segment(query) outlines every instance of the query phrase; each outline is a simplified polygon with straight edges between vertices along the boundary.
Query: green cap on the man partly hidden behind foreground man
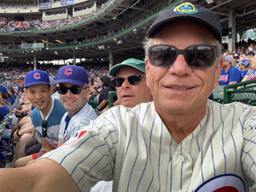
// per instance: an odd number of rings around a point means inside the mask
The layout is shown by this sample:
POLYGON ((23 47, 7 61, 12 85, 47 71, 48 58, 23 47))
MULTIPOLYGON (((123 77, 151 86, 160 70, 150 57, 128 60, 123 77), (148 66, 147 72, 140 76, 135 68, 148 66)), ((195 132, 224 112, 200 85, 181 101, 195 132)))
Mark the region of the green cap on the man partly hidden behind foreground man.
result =
POLYGON ((134 67, 137 68, 137 70, 146 73, 146 62, 145 61, 141 61, 141 60, 137 60, 137 59, 133 59, 130 58, 128 60, 125 60, 119 64, 116 64, 115 66, 113 66, 110 70, 109 70, 109 74, 111 76, 116 76, 116 73, 119 72, 119 70, 121 68, 124 67, 134 67))

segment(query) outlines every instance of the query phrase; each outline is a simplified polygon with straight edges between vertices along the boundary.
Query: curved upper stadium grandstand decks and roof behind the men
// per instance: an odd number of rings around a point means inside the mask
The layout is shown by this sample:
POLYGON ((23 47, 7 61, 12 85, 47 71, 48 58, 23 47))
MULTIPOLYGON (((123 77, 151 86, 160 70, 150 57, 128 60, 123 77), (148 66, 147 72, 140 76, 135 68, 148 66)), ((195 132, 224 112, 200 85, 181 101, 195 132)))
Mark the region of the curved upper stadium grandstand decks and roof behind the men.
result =
MULTIPOLYGON (((183 0, 2 0, 0 56, 7 66, 143 59, 143 39, 155 16, 183 0), (71 62, 67 62, 70 61, 71 62)), ((191 0, 218 14, 226 49, 256 25, 251 0, 191 0), (237 35, 236 35, 237 34, 237 35), (229 39, 227 40, 227 36, 229 39)), ((28 68, 28 67, 26 67, 28 68)))

